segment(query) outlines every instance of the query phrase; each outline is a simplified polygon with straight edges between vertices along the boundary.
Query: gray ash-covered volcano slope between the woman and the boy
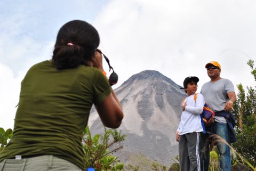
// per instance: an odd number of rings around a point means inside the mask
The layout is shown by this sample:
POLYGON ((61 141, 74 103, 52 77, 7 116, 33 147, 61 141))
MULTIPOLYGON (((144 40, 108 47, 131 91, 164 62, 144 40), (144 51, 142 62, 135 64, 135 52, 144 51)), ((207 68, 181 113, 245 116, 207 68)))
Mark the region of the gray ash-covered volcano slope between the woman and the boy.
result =
MULTIPOLYGON (((115 156, 127 164, 130 153, 141 153, 161 164, 171 164, 171 158, 178 154, 175 132, 180 120, 181 99, 186 96, 179 87, 160 72, 145 70, 115 89, 124 111, 118 130, 127 134, 124 148, 115 156)), ((89 125, 92 133, 102 133, 95 110, 91 112, 89 125)))

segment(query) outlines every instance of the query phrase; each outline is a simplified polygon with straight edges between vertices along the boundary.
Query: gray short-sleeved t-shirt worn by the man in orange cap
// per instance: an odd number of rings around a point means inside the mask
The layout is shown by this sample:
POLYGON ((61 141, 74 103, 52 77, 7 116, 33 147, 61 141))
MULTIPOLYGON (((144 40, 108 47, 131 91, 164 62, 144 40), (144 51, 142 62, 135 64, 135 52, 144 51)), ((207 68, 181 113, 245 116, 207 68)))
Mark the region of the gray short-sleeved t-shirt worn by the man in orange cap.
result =
MULTIPOLYGON (((225 108, 230 92, 235 92, 234 85, 226 78, 221 78, 216 82, 207 82, 201 89, 205 103, 209 104, 214 112, 222 111, 225 108)), ((226 123, 226 119, 223 117, 215 117, 215 121, 226 123)))

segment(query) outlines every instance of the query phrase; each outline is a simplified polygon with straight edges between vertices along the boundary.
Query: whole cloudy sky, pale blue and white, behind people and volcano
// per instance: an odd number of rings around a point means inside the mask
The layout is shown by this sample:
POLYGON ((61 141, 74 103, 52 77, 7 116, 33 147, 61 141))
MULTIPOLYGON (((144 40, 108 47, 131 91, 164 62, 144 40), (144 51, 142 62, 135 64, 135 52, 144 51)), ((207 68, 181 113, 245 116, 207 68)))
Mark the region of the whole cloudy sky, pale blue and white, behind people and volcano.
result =
POLYGON ((114 88, 150 69, 179 85, 197 76, 199 92, 211 60, 235 88, 255 86, 246 64, 256 61, 255 9, 252 0, 1 0, 0 127, 13 128, 22 78, 33 64, 51 59, 58 30, 74 19, 99 31, 100 49, 119 76, 114 88))

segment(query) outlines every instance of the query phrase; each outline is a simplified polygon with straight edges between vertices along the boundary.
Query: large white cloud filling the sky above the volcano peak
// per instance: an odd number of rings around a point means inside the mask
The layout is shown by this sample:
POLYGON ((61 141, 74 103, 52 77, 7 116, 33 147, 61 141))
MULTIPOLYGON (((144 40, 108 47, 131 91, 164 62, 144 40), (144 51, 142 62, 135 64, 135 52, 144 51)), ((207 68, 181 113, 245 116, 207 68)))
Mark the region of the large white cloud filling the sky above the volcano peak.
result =
POLYGON ((187 76, 198 76, 202 85, 209 80, 205 64, 216 60, 222 77, 253 86, 246 62, 256 60, 255 7, 252 1, 116 0, 95 26, 102 51, 119 74, 118 85, 145 69, 179 85, 187 76))

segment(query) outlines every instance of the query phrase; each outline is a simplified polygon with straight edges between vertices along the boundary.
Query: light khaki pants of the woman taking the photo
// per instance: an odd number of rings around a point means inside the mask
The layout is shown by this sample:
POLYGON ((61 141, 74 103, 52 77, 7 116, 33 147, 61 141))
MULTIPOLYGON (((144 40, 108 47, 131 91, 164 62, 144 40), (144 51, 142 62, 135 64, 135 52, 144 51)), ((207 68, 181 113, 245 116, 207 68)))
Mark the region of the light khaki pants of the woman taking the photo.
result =
POLYGON ((51 155, 25 159, 5 159, 0 162, 0 171, 82 171, 73 163, 51 155))

